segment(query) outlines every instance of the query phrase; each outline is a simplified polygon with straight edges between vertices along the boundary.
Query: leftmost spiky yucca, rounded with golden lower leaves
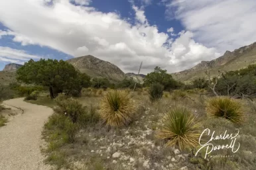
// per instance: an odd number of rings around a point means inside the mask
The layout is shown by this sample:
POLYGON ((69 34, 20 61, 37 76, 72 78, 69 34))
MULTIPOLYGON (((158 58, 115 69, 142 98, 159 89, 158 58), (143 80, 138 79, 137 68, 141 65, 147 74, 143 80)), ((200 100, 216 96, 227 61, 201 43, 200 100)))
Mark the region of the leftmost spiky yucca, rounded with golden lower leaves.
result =
POLYGON ((105 124, 120 127, 132 120, 134 105, 128 91, 112 90, 103 97, 99 109, 101 119, 105 124))

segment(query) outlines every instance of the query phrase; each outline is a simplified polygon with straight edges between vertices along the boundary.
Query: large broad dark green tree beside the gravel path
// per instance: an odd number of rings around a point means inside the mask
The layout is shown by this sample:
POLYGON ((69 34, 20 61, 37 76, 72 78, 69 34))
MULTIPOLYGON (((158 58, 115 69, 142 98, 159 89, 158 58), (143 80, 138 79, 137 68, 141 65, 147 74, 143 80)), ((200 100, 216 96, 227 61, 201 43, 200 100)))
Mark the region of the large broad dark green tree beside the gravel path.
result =
POLYGON ((29 60, 17 70, 17 80, 27 84, 48 87, 53 99, 57 93, 79 95, 82 87, 90 86, 90 77, 80 73, 63 60, 29 60))

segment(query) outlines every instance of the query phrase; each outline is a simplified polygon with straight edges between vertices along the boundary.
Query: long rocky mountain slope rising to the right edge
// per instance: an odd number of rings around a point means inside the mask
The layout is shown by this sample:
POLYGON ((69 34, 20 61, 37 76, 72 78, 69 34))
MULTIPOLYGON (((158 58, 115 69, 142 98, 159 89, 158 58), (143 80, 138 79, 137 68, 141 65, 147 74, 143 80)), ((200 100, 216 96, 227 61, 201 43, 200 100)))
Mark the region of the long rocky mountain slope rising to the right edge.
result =
POLYGON ((171 74, 174 79, 189 82, 196 77, 205 77, 206 70, 210 70, 212 76, 217 76, 219 71, 233 71, 247 67, 250 64, 256 64, 256 42, 233 52, 226 51, 223 56, 215 60, 202 61, 190 69, 171 74))

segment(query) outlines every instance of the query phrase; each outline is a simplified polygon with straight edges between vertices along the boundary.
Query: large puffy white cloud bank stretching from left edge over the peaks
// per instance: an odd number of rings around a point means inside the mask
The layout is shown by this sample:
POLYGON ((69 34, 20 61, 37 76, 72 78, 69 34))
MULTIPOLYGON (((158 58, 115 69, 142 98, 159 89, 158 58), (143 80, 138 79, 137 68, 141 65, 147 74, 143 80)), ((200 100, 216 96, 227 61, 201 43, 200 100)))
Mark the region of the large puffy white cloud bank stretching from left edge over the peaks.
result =
POLYGON ((216 49, 195 42, 192 32, 183 31, 176 40, 159 32, 157 26, 149 25, 143 9, 134 5, 135 25, 117 13, 102 13, 69 0, 54 0, 51 5, 45 0, 8 0, 0 1, 0 6, 0 22, 11 29, 3 36, 74 57, 91 54, 125 72, 137 72, 141 61, 142 73, 157 65, 168 72, 181 71, 219 55, 216 49))

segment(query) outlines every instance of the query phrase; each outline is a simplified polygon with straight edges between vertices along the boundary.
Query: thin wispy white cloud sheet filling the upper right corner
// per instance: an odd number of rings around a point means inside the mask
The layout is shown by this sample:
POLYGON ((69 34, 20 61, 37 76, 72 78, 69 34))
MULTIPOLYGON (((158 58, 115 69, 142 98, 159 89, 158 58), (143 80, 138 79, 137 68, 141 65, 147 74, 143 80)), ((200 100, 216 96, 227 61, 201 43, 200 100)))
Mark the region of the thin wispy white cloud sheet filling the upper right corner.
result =
POLYGON ((198 42, 222 53, 256 41, 255 0, 176 0, 166 8, 168 17, 182 21, 198 42))

